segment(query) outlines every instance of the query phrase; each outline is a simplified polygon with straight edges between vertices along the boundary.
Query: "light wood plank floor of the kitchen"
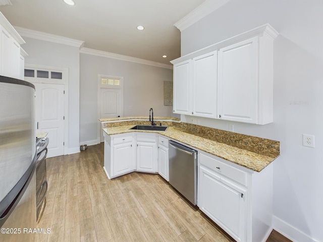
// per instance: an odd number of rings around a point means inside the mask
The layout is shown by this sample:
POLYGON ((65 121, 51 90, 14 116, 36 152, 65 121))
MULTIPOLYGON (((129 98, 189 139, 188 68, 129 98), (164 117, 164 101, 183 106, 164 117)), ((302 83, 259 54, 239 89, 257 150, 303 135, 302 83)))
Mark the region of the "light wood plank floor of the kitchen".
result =
MULTIPOLYGON (((47 159, 48 191, 36 235, 41 241, 232 241, 156 174, 112 180, 103 143, 47 159)), ((274 231, 267 242, 290 241, 274 231)))

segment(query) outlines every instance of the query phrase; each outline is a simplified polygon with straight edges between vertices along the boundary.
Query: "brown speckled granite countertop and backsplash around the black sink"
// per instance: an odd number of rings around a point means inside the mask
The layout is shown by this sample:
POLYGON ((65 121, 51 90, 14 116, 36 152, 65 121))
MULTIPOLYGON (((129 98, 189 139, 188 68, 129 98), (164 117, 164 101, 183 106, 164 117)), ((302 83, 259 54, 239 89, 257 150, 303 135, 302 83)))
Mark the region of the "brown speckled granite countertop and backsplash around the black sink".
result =
POLYGON ((161 122, 161 125, 169 126, 166 131, 129 130, 134 125, 149 125, 149 122, 138 123, 133 120, 126 123, 106 123, 103 131, 107 135, 130 132, 158 133, 257 172, 280 155, 279 141, 172 121, 161 122))

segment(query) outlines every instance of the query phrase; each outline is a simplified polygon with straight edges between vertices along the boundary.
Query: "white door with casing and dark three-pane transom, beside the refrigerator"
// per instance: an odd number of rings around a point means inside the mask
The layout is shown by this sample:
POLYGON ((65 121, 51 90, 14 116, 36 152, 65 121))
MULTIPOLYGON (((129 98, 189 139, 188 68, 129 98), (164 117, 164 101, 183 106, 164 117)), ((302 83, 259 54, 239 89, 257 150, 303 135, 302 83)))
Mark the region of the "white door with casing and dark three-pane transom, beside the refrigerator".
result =
POLYGON ((26 70, 34 74, 25 74, 25 81, 31 82, 36 87, 35 113, 39 128, 36 133, 48 132, 47 157, 68 154, 68 69, 25 64, 26 70), (38 71, 48 72, 48 78, 39 77, 38 71), (42 88, 46 90, 40 91, 42 88), (41 100, 41 95, 49 95, 51 98, 44 96, 41 100), (43 101, 45 103, 42 103, 43 101), (41 109, 45 110, 45 113, 41 114, 41 109), (61 116, 62 119, 54 122, 55 116, 61 116), (41 121, 40 118, 44 120, 41 121))

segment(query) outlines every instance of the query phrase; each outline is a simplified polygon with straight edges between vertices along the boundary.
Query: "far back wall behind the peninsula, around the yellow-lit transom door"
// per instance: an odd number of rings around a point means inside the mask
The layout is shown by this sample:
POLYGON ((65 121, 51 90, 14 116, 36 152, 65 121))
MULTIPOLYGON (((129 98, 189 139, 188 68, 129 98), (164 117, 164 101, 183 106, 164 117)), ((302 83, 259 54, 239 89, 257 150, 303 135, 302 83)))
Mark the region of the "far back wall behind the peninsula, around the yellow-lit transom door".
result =
POLYGON ((124 77, 124 116, 173 116, 164 106, 164 81, 173 81, 173 70, 80 54, 80 144, 97 140, 98 74, 124 77))

